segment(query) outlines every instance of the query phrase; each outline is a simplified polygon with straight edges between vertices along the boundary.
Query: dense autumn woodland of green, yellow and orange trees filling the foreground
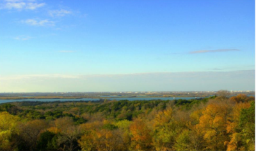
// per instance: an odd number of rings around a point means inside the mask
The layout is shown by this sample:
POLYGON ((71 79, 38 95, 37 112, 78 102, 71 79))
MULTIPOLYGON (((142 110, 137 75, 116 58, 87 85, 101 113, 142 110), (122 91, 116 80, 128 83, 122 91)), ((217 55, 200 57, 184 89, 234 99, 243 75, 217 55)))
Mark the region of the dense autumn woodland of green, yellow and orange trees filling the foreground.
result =
POLYGON ((255 98, 0 105, 0 150, 255 150, 255 98))

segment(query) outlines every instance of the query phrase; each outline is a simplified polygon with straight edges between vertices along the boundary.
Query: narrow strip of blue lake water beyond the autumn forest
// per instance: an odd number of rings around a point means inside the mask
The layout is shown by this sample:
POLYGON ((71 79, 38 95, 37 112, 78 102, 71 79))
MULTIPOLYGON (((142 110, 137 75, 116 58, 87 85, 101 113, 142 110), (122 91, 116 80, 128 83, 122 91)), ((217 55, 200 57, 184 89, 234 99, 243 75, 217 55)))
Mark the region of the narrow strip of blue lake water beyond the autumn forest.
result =
MULTIPOLYGON (((197 97, 200 98, 200 97, 197 97)), ((120 100, 152 100, 152 99, 161 99, 161 100, 173 100, 173 97, 122 97, 122 98, 108 98, 110 100, 115 99, 116 101, 120 100)), ((175 99, 195 99, 195 97, 175 97, 175 99)), ((42 102, 54 102, 54 101, 99 101, 100 99, 91 99, 91 98, 83 98, 83 99, 0 99, 1 103, 12 103, 12 102, 22 102, 22 101, 42 101, 42 102)))

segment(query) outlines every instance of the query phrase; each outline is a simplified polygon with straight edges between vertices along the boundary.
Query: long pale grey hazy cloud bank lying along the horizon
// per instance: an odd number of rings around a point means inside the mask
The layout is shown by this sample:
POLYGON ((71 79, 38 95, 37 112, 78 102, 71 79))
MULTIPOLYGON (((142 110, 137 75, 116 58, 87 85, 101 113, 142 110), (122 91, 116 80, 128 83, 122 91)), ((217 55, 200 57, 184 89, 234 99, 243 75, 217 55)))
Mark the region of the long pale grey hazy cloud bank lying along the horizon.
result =
POLYGON ((254 77, 255 71, 248 70, 116 75, 22 75, 2 76, 0 80, 3 81, 6 92, 218 91, 221 88, 254 90, 254 77), (25 84, 26 89, 23 88, 25 84), (14 91, 13 87, 19 87, 19 90, 14 91))

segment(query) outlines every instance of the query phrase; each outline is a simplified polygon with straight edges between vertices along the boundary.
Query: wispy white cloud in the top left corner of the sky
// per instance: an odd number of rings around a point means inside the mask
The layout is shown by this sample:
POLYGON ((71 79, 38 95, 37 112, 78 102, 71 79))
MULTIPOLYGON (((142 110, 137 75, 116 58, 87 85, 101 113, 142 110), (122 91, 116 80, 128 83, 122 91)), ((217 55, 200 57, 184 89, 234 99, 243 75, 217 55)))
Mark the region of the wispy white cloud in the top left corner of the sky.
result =
POLYGON ((45 6, 45 3, 35 3, 24 0, 6 0, 1 5, 1 9, 7 10, 35 10, 36 8, 45 6))

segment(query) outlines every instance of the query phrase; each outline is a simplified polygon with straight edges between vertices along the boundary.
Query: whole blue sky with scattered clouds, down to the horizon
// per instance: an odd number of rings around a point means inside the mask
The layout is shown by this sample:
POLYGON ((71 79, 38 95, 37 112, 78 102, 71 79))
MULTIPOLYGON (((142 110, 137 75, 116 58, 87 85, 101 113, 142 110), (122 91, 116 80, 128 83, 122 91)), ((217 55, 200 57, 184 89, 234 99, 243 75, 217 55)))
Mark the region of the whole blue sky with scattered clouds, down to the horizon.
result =
POLYGON ((0 0, 0 85, 255 90, 255 1, 0 0))

